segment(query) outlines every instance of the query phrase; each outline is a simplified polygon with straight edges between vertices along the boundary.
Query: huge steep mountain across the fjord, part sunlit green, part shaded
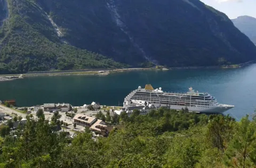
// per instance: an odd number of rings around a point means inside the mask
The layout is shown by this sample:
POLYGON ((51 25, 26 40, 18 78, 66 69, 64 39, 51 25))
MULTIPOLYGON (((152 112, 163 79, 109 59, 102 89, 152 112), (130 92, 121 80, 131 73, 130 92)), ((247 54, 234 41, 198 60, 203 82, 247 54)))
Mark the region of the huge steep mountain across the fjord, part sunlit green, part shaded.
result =
POLYGON ((199 0, 0 0, 0 72, 210 66, 256 47, 199 0), (7 1, 7 2, 6 2, 7 1))

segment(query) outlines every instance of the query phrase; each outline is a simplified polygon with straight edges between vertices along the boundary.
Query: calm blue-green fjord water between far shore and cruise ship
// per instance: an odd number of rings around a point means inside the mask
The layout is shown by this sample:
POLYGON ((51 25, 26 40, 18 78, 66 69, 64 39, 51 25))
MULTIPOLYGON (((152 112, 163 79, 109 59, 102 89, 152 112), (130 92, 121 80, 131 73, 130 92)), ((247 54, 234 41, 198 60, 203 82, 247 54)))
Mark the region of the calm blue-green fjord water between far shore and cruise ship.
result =
POLYGON ((131 90, 150 83, 164 91, 185 93, 190 86, 215 96, 219 103, 235 105, 225 114, 237 120, 256 108, 256 64, 241 69, 130 71, 107 76, 29 77, 0 82, 0 99, 15 99, 19 106, 92 101, 122 105, 131 90))

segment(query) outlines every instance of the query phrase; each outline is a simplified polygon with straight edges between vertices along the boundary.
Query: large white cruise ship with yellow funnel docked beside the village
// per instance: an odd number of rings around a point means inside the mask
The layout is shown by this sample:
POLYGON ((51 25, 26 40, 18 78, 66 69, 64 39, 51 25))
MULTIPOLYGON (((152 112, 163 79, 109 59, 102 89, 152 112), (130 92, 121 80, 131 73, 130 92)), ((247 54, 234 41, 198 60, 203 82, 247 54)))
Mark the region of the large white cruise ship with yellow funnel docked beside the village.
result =
MULTIPOLYGON (((223 113, 233 105, 219 104, 217 99, 208 93, 198 93, 192 87, 187 93, 167 93, 162 88, 154 89, 151 85, 145 88, 133 90, 124 98, 124 107, 136 106, 134 100, 150 102, 156 107, 168 107, 173 110, 181 110, 188 108, 190 112, 199 113, 223 113)), ((136 101, 135 101, 136 102, 136 101)))

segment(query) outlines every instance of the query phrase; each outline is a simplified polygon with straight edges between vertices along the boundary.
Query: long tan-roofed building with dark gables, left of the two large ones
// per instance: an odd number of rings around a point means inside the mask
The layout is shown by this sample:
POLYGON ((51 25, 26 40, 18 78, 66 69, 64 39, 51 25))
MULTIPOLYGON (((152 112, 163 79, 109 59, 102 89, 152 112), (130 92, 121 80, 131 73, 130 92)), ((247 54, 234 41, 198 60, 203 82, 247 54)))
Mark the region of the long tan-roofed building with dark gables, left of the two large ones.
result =
POLYGON ((74 123, 83 127, 91 127, 96 121, 96 118, 84 114, 76 114, 74 116, 74 123))

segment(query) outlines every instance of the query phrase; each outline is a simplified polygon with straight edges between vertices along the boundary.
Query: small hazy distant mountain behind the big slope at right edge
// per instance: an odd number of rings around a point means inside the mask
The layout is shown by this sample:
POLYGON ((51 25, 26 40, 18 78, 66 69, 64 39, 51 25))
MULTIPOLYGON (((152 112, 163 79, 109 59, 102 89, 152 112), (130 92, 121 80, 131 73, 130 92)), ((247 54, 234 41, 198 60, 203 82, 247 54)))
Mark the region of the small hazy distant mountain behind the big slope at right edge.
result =
POLYGON ((235 26, 245 33, 256 45, 256 18, 251 16, 239 16, 236 19, 232 19, 232 21, 235 26))

